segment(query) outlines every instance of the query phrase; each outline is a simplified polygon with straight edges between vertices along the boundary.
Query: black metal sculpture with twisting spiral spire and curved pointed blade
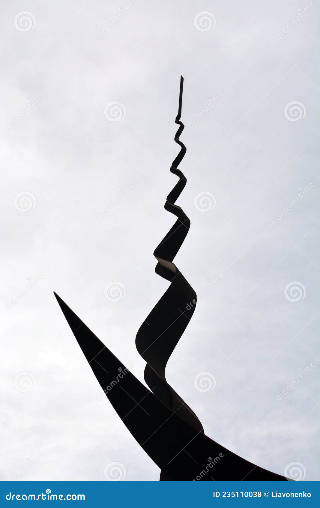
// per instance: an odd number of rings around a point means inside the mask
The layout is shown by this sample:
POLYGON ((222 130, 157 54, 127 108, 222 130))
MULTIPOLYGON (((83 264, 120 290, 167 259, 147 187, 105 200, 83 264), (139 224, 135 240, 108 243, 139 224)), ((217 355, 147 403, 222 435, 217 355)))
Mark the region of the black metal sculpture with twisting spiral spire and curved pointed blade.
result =
POLYGON ((186 185, 180 169, 186 147, 180 141, 183 77, 179 125, 174 141, 181 150, 170 171, 179 177, 164 205, 177 219, 154 251, 156 273, 170 282, 136 335, 136 347, 146 360, 145 380, 150 390, 131 374, 79 317, 56 298, 101 388, 145 452, 160 467, 160 480, 287 480, 226 450, 204 434, 190 407, 170 387, 165 367, 195 309, 196 293, 173 264, 190 228, 190 220, 175 201, 186 185), (189 308, 189 310, 187 310, 189 308), (215 460, 217 458, 217 460, 215 460))

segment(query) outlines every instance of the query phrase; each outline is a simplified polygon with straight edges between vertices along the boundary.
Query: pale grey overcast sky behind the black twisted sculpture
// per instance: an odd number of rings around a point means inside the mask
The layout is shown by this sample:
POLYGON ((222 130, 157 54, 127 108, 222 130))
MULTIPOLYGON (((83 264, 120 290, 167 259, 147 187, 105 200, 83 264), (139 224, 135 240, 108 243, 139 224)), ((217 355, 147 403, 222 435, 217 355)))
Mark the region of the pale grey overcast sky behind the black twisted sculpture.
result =
POLYGON ((318 0, 1 8, 0 478, 159 479, 53 291, 144 382, 134 340, 168 287, 153 250, 174 221, 182 74, 175 263, 201 298, 167 380, 212 439, 318 480, 318 0))

